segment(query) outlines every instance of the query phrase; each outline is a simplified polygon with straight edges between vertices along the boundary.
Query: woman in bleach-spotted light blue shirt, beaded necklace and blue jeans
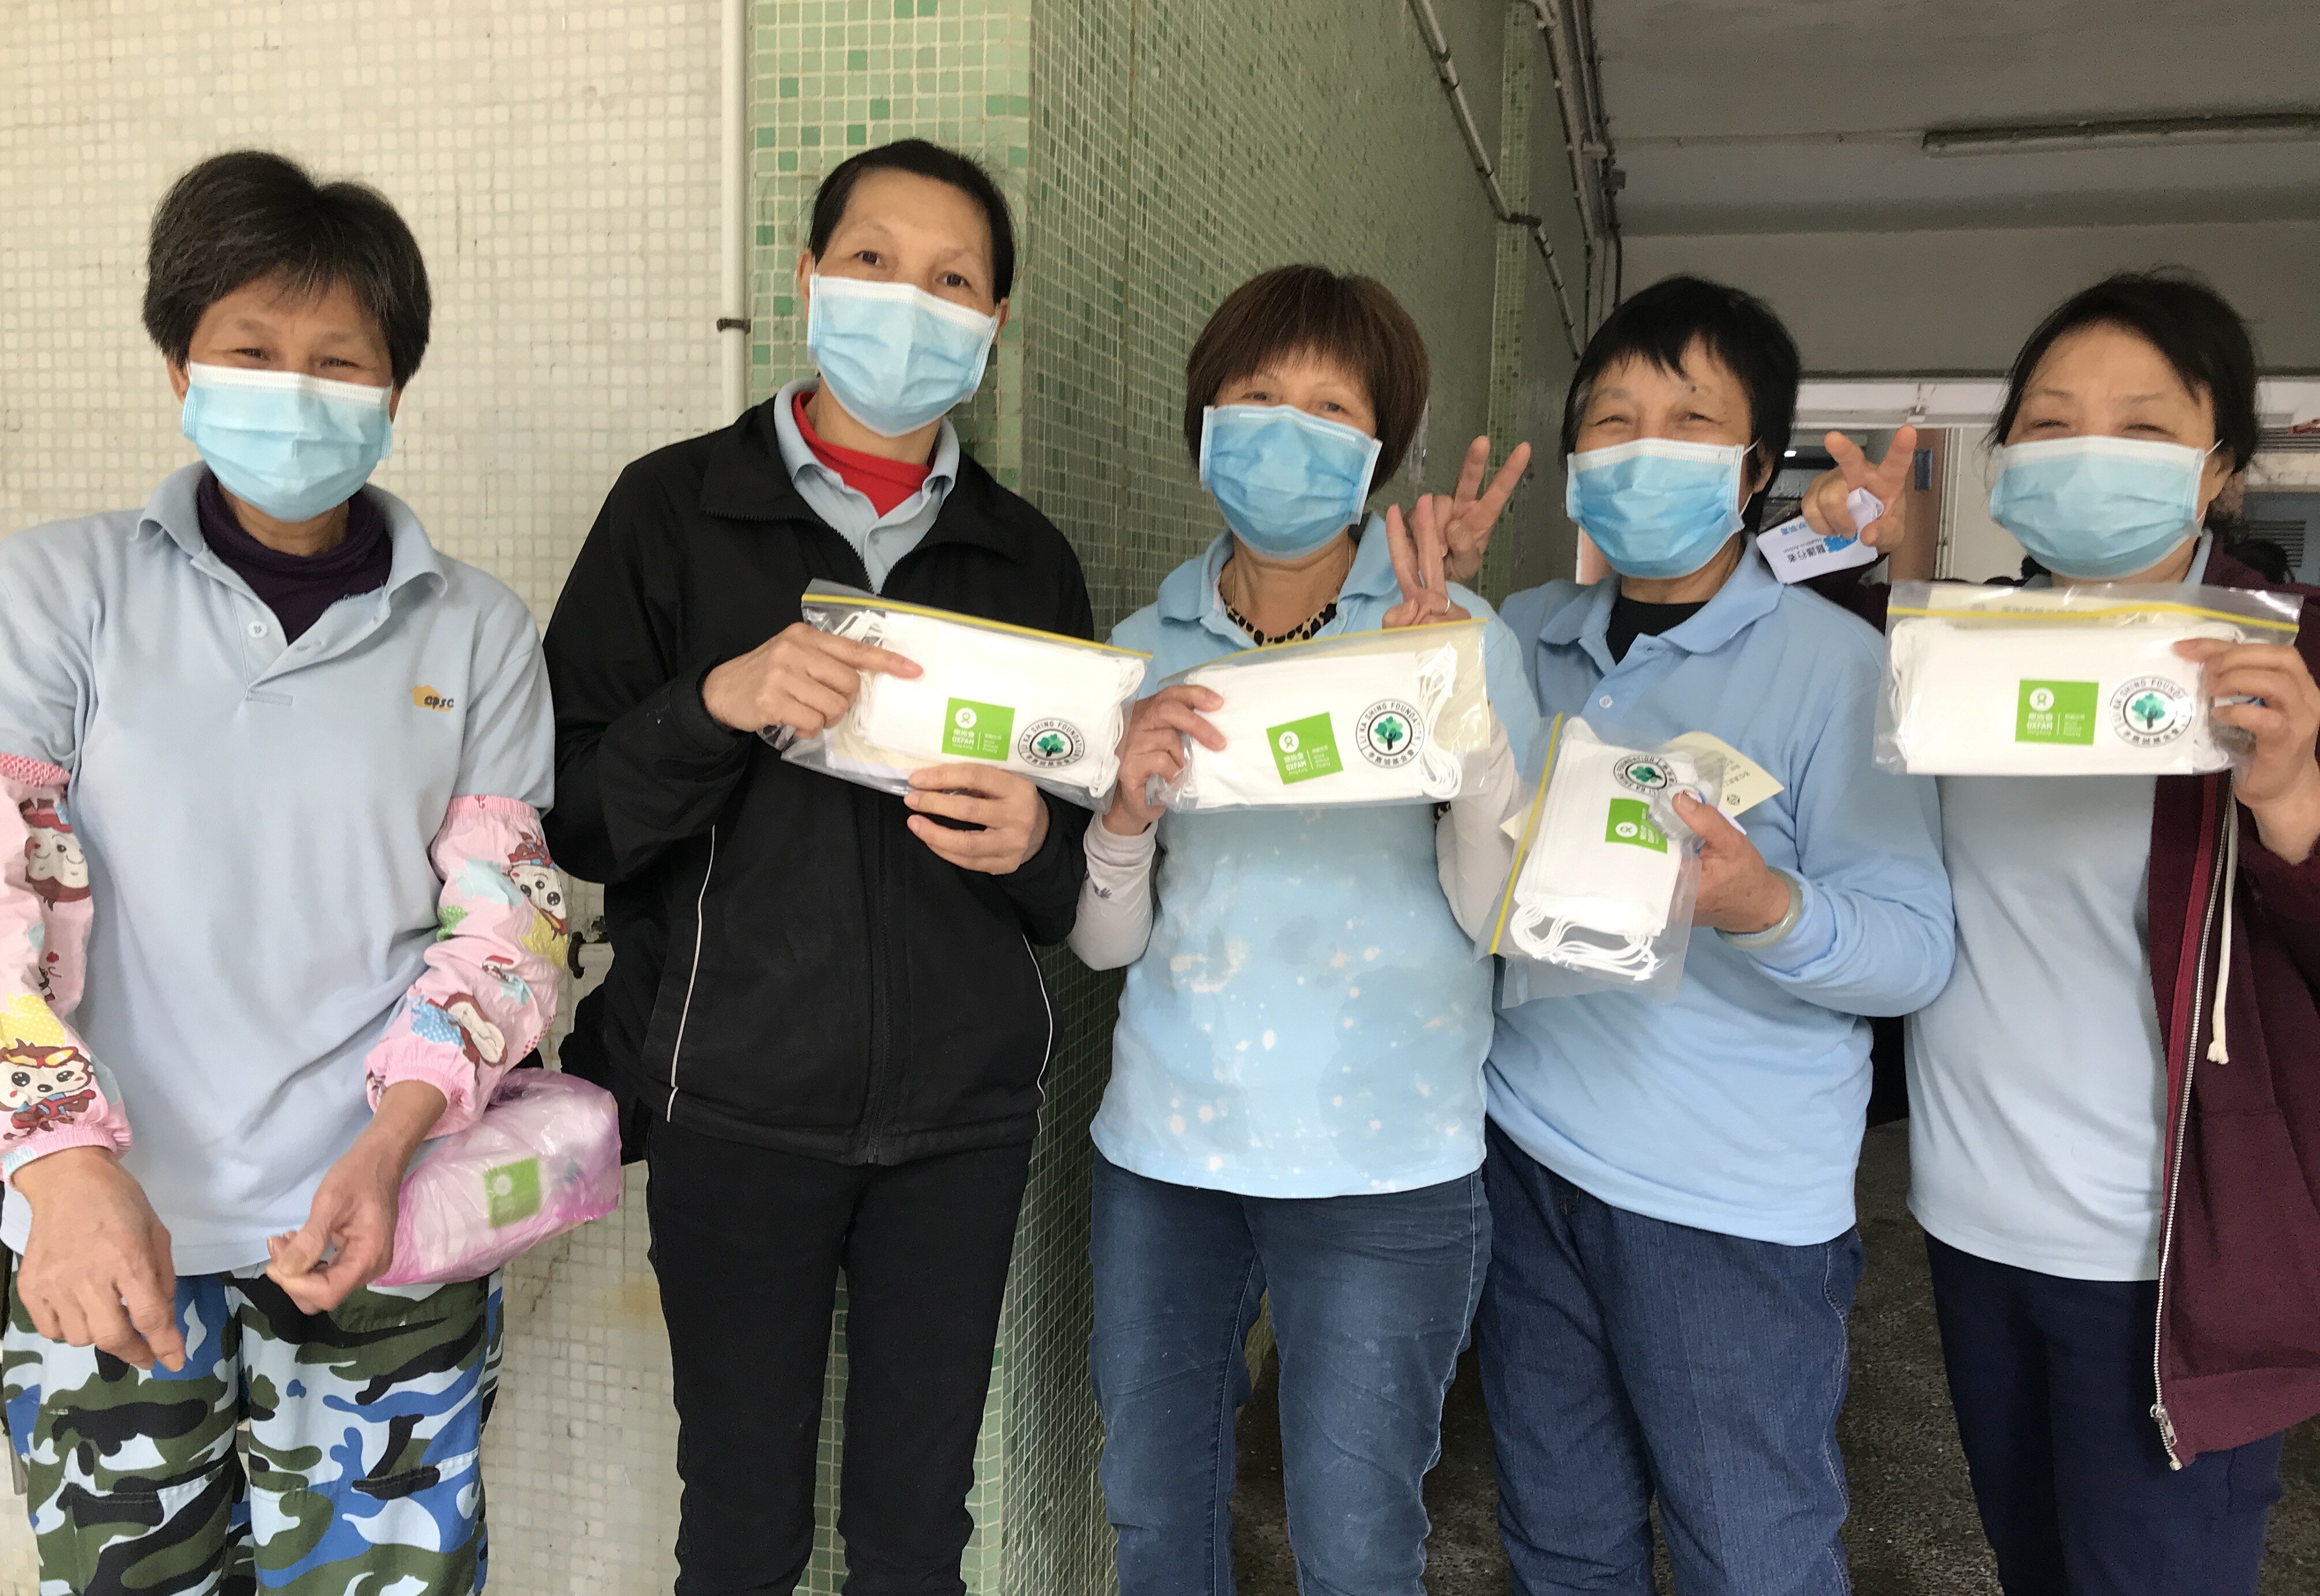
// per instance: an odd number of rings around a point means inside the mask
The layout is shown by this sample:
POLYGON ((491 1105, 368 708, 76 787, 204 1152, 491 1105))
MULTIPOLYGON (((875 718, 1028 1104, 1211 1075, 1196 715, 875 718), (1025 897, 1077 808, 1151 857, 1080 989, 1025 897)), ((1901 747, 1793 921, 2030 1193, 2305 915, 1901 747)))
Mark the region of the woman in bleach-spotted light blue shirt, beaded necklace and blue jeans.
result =
MULTIPOLYGON (((1151 652, 1158 682, 1262 643, 1489 617, 1445 585, 1445 534, 1496 515, 1524 450, 1476 499, 1478 443, 1448 515, 1420 501, 1415 538, 1399 510, 1357 527, 1424 397, 1424 343, 1378 283, 1283 267, 1239 288, 1186 371, 1186 443, 1230 531, 1111 640, 1151 652)), ((1220 698, 1167 687, 1137 708, 1118 798, 1088 828, 1072 946, 1130 967, 1093 1239, 1125 1596, 1232 1589, 1232 1420, 1267 1297, 1302 1587, 1420 1596, 1420 1485, 1489 1260, 1489 967, 1462 919, 1503 875, 1496 826, 1536 721, 1494 617, 1485 652, 1506 726, 1443 817, 1162 817, 1146 777, 1181 768, 1183 735, 1223 745, 1202 717, 1220 698)))

